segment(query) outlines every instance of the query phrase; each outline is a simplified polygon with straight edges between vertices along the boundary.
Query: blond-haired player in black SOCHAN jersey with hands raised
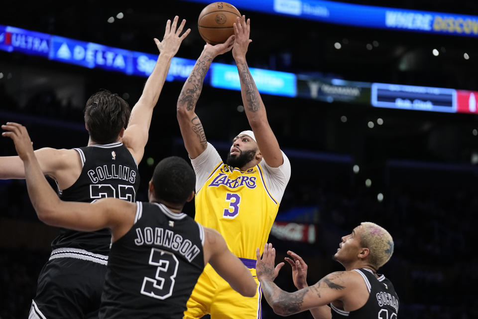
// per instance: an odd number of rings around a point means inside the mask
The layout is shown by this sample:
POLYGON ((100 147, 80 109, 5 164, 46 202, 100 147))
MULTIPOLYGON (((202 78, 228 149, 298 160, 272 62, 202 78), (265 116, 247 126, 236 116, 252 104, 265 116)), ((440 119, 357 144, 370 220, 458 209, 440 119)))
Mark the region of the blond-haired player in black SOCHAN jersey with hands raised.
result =
POLYGON ((331 273, 310 287, 306 282, 307 265, 297 254, 291 251, 288 254, 294 260, 285 260, 292 266, 294 285, 299 289, 294 293, 287 293, 273 283, 284 263, 274 268, 272 245, 265 245, 261 260, 258 248, 256 252, 257 278, 276 314, 288 316, 310 310, 315 319, 397 318, 399 303, 395 289, 390 280, 377 274, 378 268, 393 254, 393 239, 384 228, 362 222, 351 234, 342 237, 334 259, 345 271, 331 273))

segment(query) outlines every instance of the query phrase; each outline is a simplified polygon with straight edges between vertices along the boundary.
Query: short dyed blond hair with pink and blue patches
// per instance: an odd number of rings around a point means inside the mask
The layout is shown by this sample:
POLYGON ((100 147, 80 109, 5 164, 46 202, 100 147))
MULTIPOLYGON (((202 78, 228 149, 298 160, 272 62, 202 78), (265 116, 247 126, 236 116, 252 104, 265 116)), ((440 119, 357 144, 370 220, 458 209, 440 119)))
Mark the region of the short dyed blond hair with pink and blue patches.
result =
POLYGON ((382 267, 393 254, 392 236, 383 227, 372 222, 362 222, 363 231, 360 234, 360 244, 370 250, 369 261, 378 269, 382 267))

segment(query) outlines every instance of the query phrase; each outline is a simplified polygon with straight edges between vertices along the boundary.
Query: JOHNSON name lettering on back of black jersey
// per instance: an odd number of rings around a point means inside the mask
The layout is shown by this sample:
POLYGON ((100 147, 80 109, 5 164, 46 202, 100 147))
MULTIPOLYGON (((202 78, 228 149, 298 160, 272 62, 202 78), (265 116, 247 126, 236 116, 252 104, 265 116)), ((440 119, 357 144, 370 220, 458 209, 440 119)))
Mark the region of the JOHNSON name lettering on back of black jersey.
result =
POLYGON ((144 227, 144 229, 136 228, 137 238, 134 243, 137 246, 141 245, 156 245, 166 247, 179 252, 189 262, 191 262, 201 251, 196 245, 193 245, 189 239, 184 239, 183 236, 175 234, 173 231, 160 227, 155 227, 154 231, 151 227, 144 227))

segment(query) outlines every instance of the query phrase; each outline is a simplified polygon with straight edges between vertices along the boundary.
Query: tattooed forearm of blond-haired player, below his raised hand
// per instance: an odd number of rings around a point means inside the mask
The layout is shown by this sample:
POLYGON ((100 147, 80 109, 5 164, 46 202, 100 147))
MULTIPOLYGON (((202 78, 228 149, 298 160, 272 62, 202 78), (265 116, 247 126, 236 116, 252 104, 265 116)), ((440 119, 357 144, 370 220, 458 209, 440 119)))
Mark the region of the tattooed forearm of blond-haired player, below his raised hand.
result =
POLYGON ((288 316, 302 310, 301 306, 307 289, 302 289, 295 293, 287 293, 270 281, 262 281, 261 288, 267 303, 269 303, 276 314, 288 316))

